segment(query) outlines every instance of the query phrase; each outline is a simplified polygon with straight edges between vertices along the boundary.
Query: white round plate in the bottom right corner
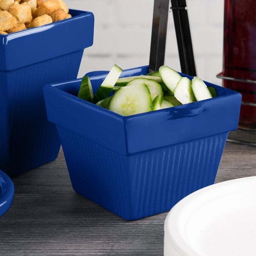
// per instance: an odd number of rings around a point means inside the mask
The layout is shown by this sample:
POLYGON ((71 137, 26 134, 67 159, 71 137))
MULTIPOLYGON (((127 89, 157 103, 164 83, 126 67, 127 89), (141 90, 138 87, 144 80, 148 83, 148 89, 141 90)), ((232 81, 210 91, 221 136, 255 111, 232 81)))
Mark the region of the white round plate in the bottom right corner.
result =
POLYGON ((165 221, 164 256, 256 256, 256 176, 200 189, 165 221))

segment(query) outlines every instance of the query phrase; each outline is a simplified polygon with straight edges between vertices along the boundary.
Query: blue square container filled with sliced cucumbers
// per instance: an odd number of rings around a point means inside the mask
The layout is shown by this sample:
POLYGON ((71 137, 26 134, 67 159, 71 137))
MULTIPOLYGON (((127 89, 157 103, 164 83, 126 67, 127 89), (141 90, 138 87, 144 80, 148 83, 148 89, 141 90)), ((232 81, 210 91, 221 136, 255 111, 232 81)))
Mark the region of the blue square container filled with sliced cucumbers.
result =
MULTIPOLYGON (((146 73, 147 66, 122 76, 146 73)), ((90 78, 94 92, 105 76, 90 78)), ((80 83, 44 87, 48 119, 57 126, 77 193, 136 220, 169 211, 214 183, 228 132, 238 126, 239 93, 207 83, 218 97, 121 116, 79 99, 80 83)))

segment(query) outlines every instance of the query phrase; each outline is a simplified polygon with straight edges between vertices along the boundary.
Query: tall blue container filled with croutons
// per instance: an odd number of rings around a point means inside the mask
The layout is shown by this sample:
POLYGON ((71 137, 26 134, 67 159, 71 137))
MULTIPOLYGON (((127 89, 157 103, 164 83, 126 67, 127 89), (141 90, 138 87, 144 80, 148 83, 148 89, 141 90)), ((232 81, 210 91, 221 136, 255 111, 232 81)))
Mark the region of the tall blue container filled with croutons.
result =
POLYGON ((91 12, 0 35, 0 169, 10 176, 58 156, 60 140, 47 121, 44 84, 76 79, 83 50, 93 44, 91 12))

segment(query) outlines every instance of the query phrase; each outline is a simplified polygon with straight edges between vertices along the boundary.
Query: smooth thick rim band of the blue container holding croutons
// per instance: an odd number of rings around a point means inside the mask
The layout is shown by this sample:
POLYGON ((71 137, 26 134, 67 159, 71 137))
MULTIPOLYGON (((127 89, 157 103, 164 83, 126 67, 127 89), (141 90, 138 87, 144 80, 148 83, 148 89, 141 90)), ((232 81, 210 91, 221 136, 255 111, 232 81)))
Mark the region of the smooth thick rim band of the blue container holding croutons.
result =
POLYGON ((49 60, 93 45, 92 12, 70 9, 73 16, 44 26, 0 35, 0 71, 49 60), (46 48, 46 51, 40 51, 46 48))

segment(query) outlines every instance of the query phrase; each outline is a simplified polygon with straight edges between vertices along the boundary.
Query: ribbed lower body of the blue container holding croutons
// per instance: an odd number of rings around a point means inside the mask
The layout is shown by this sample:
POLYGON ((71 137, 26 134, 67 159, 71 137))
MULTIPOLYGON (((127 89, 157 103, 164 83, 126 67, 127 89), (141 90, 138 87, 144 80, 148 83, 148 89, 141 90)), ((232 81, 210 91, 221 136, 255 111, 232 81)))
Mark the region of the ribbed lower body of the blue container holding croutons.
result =
POLYGON ((0 168, 10 176, 58 156, 60 140, 47 120, 44 84, 75 79, 83 50, 9 72, 0 71, 0 168))

